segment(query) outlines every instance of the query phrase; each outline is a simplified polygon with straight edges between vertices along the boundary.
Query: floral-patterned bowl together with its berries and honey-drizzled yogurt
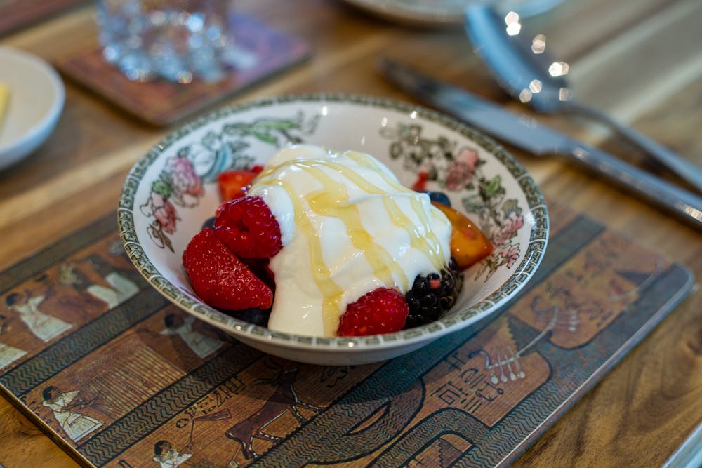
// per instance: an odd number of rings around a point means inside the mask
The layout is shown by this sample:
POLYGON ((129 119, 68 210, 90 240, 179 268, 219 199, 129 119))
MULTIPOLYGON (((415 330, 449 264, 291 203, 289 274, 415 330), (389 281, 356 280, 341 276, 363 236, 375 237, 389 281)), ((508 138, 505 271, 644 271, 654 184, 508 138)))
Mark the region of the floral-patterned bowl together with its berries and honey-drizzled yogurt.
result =
POLYGON ((354 95, 229 107, 132 169, 126 251, 176 305, 264 352, 390 359, 485 319, 548 241, 534 181, 447 116, 354 95))

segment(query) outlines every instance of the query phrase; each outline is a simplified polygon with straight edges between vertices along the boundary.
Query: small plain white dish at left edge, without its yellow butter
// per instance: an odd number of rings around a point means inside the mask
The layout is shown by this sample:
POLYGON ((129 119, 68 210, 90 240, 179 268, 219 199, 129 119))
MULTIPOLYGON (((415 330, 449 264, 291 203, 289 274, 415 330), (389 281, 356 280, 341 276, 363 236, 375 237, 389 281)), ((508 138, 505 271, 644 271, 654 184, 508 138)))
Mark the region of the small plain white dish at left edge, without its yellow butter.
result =
POLYGON ((0 47, 0 81, 10 102, 0 121, 0 170, 37 149, 58 122, 65 89, 58 73, 35 55, 0 47))

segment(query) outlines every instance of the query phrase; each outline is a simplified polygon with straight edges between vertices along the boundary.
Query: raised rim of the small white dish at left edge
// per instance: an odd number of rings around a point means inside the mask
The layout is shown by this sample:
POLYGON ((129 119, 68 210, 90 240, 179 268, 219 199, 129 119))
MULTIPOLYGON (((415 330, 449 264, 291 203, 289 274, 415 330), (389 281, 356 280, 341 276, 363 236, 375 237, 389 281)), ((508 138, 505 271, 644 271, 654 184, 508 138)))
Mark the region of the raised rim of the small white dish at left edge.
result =
MULTIPOLYGON (((0 56, 2 55, 11 56, 15 59, 20 60, 20 62, 23 61, 25 63, 31 63, 32 65, 36 66, 39 70, 41 70, 41 72, 44 73, 44 76, 48 78, 48 81, 53 89, 53 101, 51 102, 51 105, 48 107, 44 115, 41 116, 41 119, 35 122, 31 128, 25 131, 25 133, 22 133, 21 135, 19 135, 18 138, 15 138, 14 140, 10 140, 4 144, 0 144, 0 159, 2 159, 5 154, 12 154, 13 152, 15 152, 16 149, 22 147, 22 145, 27 145, 27 142, 38 138, 39 136, 41 136, 41 133, 45 132, 48 128, 51 128, 53 123, 55 123, 55 119, 61 113, 66 99, 66 90, 65 86, 63 86, 63 81, 61 80, 58 72, 46 60, 32 53, 22 51, 18 48, 11 48, 5 46, 0 46, 0 56)), ((5 116, 5 118, 8 118, 8 115, 5 116)), ((15 156, 14 161, 22 159, 22 156, 28 155, 29 152, 32 152, 32 149, 29 149, 27 154, 15 156)), ((0 166, 2 165, 3 163, 2 161, 0 161, 0 166)))

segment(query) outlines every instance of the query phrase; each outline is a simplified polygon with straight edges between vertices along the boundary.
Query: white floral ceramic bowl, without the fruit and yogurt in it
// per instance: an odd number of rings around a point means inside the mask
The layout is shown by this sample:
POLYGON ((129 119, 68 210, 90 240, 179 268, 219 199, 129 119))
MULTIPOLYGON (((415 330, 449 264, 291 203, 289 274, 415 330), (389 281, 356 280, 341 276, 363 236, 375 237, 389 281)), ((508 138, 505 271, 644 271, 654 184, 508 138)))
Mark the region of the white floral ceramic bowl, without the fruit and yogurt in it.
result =
POLYGON ((496 312, 529 281, 548 239, 548 213, 534 180, 494 141, 437 112, 355 95, 284 96, 221 109, 180 128, 129 173, 119 199, 121 241, 154 288, 241 342, 287 359, 326 365, 369 363, 418 349, 496 312), (188 241, 220 204, 216 175, 262 164, 289 142, 376 156, 410 186, 419 171, 449 194, 495 245, 465 271, 446 316, 398 333, 322 338, 277 333, 208 307, 181 265, 188 241))

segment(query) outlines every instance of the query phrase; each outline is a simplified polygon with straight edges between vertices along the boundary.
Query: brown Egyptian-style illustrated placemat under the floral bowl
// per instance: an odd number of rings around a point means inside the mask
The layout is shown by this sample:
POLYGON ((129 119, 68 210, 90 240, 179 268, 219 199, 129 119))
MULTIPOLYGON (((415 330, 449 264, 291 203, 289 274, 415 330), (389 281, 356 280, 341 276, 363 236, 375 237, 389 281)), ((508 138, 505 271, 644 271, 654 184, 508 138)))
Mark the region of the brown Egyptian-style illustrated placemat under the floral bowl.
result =
POLYGON ((147 286, 111 215, 0 274, 0 389, 86 466, 505 466, 687 295, 681 265, 562 206, 472 330, 364 366, 284 361, 147 286))

